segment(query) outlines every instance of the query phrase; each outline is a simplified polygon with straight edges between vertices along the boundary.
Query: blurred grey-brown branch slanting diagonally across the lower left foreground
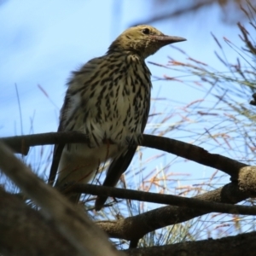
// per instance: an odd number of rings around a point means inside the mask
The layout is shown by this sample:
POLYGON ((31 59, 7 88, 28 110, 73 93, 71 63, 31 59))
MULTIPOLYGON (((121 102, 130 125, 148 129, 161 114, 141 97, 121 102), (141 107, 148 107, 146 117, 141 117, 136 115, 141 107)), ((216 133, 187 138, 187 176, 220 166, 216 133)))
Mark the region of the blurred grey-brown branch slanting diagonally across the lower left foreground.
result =
POLYGON ((45 184, 0 142, 0 168, 32 201, 41 208, 40 214, 70 242, 81 255, 121 255, 108 242, 107 236, 90 219, 74 209, 67 199, 45 184), (97 247, 98 243, 101 247, 97 247))

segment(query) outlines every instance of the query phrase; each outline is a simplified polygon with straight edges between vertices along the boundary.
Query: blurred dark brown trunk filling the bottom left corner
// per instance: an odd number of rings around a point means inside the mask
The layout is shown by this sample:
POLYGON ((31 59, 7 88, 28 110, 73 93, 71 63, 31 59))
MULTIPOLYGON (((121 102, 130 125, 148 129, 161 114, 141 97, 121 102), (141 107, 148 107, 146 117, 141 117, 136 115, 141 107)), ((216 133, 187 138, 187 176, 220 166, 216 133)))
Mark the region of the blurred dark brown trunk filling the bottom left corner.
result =
POLYGON ((15 195, 0 187, 0 198, 1 255, 81 255, 54 225, 15 195))

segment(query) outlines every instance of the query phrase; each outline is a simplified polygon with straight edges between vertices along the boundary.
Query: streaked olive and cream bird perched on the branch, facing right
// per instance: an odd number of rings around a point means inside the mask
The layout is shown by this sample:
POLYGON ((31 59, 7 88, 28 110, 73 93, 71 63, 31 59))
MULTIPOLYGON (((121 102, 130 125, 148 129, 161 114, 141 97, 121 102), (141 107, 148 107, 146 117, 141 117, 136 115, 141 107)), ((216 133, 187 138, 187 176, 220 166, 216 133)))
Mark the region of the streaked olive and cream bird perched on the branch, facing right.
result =
MULTIPOLYGON (((143 139, 148 121, 152 84, 145 59, 167 44, 185 40, 167 36, 153 26, 132 26, 110 44, 105 55, 91 59, 72 73, 58 131, 82 132, 89 142, 64 145, 56 188, 89 183, 107 160, 110 165, 103 185, 118 183, 143 139)), ((54 152, 58 147, 55 145, 54 152)), ((55 172, 51 168, 50 183, 55 172)), ((77 204, 80 194, 68 192, 67 197, 77 204)), ((96 198, 96 211, 107 199, 96 198)))

